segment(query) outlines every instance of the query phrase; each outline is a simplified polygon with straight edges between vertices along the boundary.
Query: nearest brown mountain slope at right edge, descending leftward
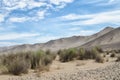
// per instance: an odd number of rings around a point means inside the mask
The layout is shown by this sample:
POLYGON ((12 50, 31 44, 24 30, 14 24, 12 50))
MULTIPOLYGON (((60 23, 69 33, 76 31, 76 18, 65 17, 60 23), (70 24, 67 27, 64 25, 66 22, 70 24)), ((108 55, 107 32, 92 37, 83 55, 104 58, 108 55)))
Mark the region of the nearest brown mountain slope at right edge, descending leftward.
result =
POLYGON ((82 45, 82 47, 92 47, 100 45, 103 49, 120 48, 120 27, 109 31, 108 33, 82 45))

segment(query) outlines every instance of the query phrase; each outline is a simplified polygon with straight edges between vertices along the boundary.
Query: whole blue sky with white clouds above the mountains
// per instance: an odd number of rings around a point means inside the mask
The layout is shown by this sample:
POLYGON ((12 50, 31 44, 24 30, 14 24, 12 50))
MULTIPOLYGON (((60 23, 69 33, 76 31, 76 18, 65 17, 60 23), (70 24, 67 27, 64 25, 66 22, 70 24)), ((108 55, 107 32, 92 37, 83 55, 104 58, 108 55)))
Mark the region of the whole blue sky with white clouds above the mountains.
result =
POLYGON ((120 0, 0 0, 0 46, 92 35, 120 26, 120 0))

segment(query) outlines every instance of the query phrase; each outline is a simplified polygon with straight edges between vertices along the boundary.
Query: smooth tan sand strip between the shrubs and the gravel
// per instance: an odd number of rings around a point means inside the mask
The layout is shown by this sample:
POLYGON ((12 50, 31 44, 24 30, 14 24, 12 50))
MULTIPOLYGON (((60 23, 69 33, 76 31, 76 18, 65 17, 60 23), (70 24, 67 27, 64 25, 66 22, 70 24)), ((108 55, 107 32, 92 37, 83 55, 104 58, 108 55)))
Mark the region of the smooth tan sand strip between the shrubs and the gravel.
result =
MULTIPOLYGON (((67 63, 61 63, 58 60, 53 61, 52 65, 50 66, 50 70, 48 72, 43 73, 35 73, 33 70, 30 70, 28 74, 24 74, 21 76, 14 76, 14 75, 0 75, 0 80, 25 80, 26 77, 28 80, 34 80, 33 77, 38 76, 46 76, 46 75, 52 75, 56 73, 65 73, 69 72, 72 73, 75 70, 92 70, 96 68, 106 67, 108 65, 112 64, 112 62, 106 62, 106 63, 96 63, 94 60, 74 60, 67 63), (29 76, 32 76, 32 78, 29 79, 29 76), (22 79, 19 79, 21 78, 22 79), (24 79, 25 77, 25 79, 24 79)), ((37 80, 37 79, 36 79, 37 80)))

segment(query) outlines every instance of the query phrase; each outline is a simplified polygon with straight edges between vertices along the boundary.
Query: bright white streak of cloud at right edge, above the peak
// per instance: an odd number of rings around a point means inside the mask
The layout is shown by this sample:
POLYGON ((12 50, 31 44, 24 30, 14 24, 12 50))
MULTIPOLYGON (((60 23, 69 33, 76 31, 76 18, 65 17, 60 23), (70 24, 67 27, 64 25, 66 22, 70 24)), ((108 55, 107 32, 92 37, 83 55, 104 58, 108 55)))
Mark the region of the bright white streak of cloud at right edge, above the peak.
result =
POLYGON ((85 25, 93 25, 101 23, 120 22, 120 11, 104 12, 93 15, 90 15, 91 16, 90 19, 81 21, 80 23, 85 25))

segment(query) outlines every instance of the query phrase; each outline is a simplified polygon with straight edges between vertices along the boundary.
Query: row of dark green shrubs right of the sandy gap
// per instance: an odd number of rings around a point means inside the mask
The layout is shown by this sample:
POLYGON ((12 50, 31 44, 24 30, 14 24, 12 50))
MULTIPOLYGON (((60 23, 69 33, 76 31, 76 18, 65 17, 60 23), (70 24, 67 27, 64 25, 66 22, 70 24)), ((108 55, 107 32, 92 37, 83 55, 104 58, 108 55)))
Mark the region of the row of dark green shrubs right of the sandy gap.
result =
MULTIPOLYGON (((66 49, 66 50, 59 50, 58 54, 60 56, 61 62, 68 62, 73 59, 79 59, 79 60, 86 60, 86 59, 102 59, 102 57, 99 57, 100 53, 102 52, 101 48, 94 47, 91 50, 87 50, 84 48, 80 49, 66 49)), ((102 62, 97 60, 97 62, 102 62)))

